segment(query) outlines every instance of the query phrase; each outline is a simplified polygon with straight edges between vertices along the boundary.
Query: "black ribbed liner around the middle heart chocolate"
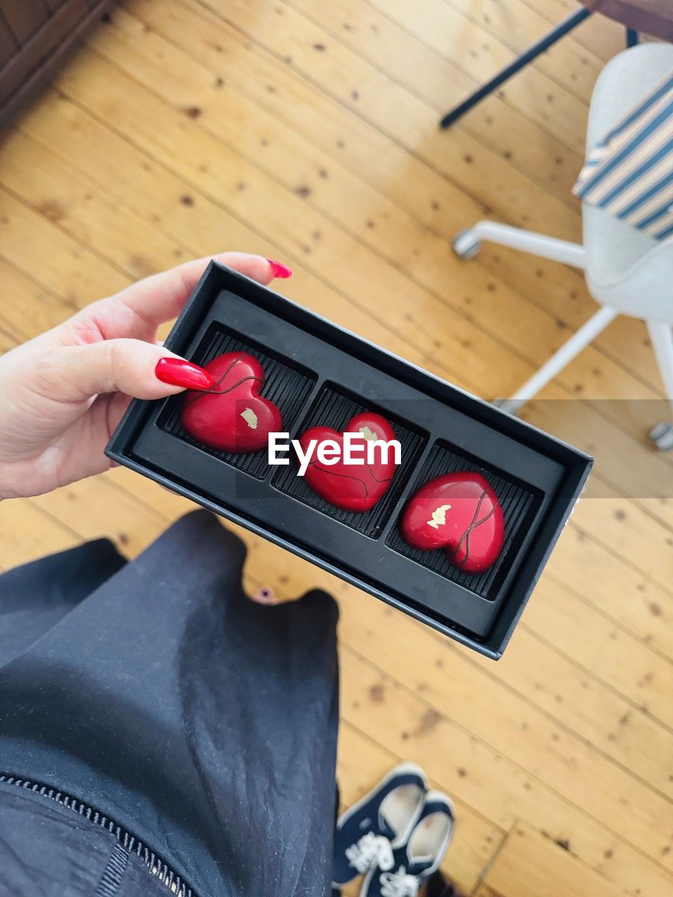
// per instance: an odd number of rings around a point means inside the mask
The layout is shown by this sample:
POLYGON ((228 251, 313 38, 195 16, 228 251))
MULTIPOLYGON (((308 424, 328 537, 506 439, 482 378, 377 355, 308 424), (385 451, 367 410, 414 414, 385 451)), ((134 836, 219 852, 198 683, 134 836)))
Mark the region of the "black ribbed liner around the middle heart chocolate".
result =
POLYGON ((297 465, 293 459, 291 459, 289 466, 278 468, 278 472, 274 475, 271 482, 280 492, 292 495, 293 498, 303 501, 304 504, 310 505, 311 508, 317 508, 329 517, 344 523, 346 527, 351 527, 358 533, 363 533, 364 536, 376 538, 388 522, 390 513, 396 501, 398 501, 418 457, 423 451, 425 444, 424 434, 420 431, 412 430, 409 424, 402 423, 397 418, 391 417, 387 412, 378 409, 376 405, 362 405, 354 396, 337 389, 334 384, 328 384, 320 391, 318 398, 310 408, 309 414, 302 422, 300 431, 304 432, 309 430, 310 427, 317 426, 331 427, 333 430, 343 431, 346 424, 355 414, 362 414, 364 411, 376 412, 385 417, 392 425, 396 439, 399 440, 402 448, 402 464, 395 472, 388 490, 371 510, 360 513, 358 511, 335 508, 334 505, 320 498, 316 492, 313 492, 302 476, 297 475, 297 465))

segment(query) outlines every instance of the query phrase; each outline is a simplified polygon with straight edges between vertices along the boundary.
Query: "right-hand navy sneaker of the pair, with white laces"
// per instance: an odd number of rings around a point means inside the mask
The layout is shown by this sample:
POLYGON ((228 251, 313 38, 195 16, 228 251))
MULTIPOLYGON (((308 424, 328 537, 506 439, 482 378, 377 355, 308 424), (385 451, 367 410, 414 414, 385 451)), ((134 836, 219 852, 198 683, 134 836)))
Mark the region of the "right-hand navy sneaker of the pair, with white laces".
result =
POLYGON ((392 866, 372 867, 360 897, 416 897, 446 856, 454 824, 449 798, 439 791, 429 791, 413 832, 406 843, 393 850, 392 866))

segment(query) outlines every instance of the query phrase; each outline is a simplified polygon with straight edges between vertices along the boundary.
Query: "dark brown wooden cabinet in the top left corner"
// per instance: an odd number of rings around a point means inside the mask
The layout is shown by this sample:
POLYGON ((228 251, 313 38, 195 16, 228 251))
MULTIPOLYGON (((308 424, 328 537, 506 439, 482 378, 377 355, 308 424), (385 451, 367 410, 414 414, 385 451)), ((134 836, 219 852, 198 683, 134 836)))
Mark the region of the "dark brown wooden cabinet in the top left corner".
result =
POLYGON ((0 0, 0 127, 114 0, 0 0))

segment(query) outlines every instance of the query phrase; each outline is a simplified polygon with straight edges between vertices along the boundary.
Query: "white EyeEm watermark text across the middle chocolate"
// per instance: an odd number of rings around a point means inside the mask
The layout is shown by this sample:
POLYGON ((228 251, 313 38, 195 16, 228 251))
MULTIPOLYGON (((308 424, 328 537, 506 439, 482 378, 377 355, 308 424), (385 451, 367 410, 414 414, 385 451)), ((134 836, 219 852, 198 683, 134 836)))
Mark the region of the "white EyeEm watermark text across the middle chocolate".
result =
POLYGON ((387 464, 389 452, 393 453, 393 463, 402 463, 402 447, 399 440, 363 439, 360 433, 345 432, 343 444, 337 440, 310 440, 306 448, 302 448, 299 440, 290 441, 289 433, 268 434, 268 463, 274 466, 290 463, 289 451, 292 447, 299 459, 299 475, 306 473, 312 460, 325 466, 332 466, 343 461, 344 464, 387 464), (282 454, 281 454, 282 453, 282 454))

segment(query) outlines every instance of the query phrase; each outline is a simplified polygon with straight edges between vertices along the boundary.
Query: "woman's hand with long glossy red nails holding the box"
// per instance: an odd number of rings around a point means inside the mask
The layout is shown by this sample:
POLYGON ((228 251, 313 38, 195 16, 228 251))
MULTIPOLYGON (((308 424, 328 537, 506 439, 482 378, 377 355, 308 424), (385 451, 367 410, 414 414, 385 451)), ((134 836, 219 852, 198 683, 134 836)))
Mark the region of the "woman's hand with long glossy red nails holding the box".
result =
MULTIPOLYGON (((259 283, 290 274, 261 256, 215 258, 259 283)), ((0 358, 0 499, 40 495, 107 470, 103 448, 132 397, 208 386, 205 370, 155 342, 157 327, 179 315, 208 261, 94 302, 0 358)))

